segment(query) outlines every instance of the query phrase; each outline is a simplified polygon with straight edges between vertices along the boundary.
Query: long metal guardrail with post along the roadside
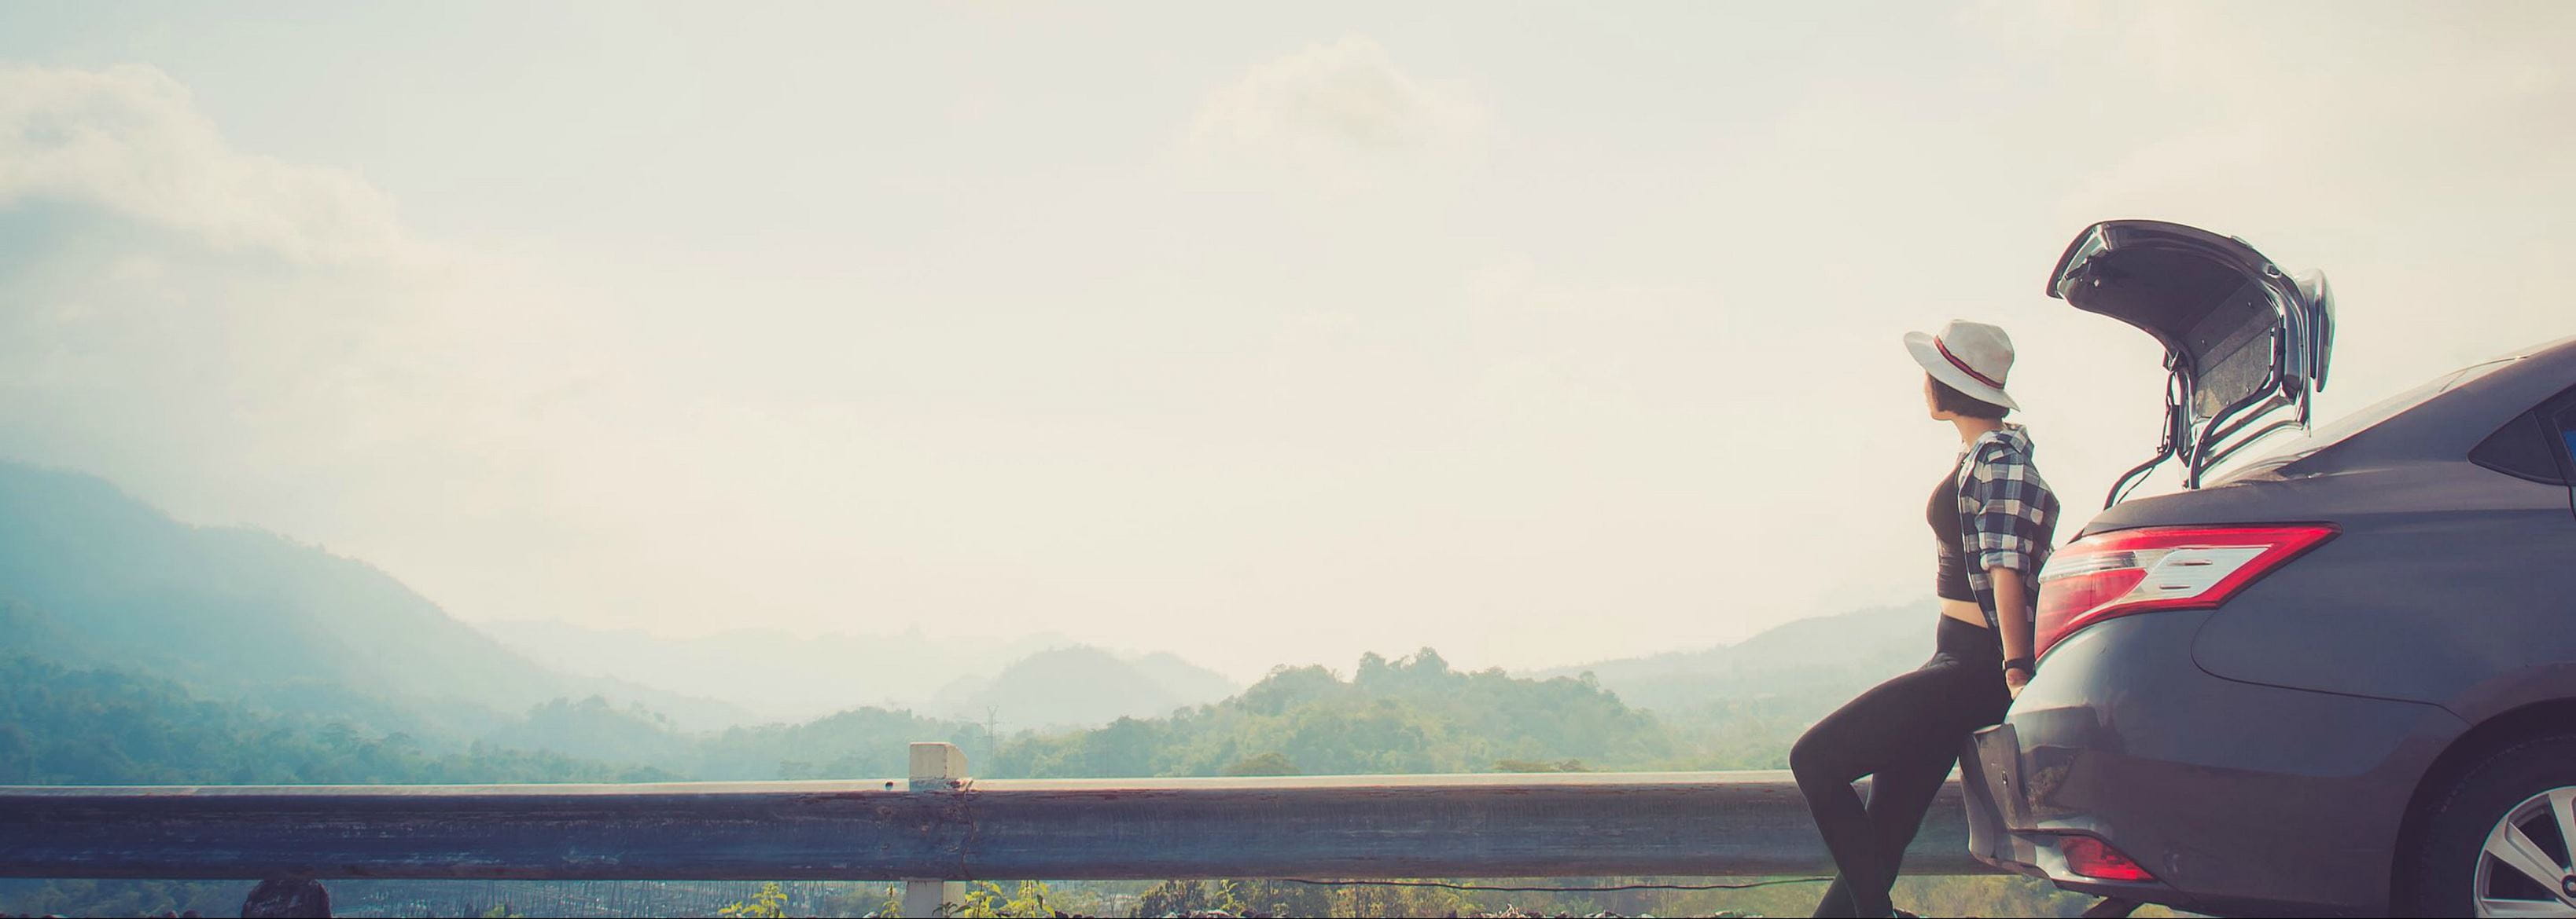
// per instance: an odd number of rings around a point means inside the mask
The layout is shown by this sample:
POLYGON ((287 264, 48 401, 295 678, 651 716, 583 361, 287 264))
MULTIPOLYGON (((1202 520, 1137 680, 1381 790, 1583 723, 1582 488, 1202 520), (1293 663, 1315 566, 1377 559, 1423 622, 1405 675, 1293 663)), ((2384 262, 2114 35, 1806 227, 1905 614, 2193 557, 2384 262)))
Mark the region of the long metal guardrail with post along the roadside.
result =
MULTIPOLYGON (((0 788, 0 875, 922 880, 935 896, 938 880, 969 878, 1832 873, 1788 772, 969 780, 948 744, 914 744, 914 772, 0 788)), ((1958 783, 1906 849, 1906 873, 1994 873, 1968 855, 1958 783)))

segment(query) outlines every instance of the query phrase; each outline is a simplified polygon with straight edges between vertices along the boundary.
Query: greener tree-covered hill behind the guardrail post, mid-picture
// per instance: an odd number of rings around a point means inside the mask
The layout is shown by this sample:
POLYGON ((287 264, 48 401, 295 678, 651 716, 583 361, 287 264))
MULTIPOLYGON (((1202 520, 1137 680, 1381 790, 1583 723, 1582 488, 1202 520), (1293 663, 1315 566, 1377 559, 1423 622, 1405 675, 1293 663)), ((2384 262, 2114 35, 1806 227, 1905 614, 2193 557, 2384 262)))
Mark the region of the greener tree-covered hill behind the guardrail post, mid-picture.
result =
MULTIPOLYGON (((858 708, 806 723, 677 731, 649 710, 554 703, 495 744, 636 762, 708 780, 902 775, 904 744, 945 739, 981 777, 1674 770, 1705 757, 1579 677, 1450 669, 1437 651, 1368 654, 1350 674, 1280 667, 1242 695, 1087 731, 987 736, 974 721, 858 708)), ((1775 759, 1783 744, 1759 757, 1775 759)))

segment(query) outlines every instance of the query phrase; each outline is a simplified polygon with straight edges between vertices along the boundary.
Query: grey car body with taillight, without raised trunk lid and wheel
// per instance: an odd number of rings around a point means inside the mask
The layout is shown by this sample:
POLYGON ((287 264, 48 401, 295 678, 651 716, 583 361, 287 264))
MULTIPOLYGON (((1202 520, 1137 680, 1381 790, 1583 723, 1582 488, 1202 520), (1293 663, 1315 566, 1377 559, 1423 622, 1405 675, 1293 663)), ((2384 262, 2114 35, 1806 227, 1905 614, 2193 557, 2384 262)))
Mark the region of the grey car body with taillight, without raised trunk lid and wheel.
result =
POLYGON ((2481 363, 2105 510, 1963 762, 1973 852, 2192 911, 2388 914, 2481 692, 2576 662, 2568 487, 2473 456, 2568 384, 2576 342, 2481 363))

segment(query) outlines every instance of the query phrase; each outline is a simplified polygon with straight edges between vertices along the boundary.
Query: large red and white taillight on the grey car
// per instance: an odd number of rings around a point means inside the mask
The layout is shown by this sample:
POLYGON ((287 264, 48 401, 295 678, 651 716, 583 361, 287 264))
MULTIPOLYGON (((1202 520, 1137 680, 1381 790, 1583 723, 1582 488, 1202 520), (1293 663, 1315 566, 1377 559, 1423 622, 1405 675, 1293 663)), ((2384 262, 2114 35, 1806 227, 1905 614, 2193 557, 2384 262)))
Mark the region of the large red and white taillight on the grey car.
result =
POLYGON ((2138 528, 2079 538, 2040 571, 2035 654, 2084 626, 2154 610, 2208 610, 2342 533, 2331 523, 2138 528))

